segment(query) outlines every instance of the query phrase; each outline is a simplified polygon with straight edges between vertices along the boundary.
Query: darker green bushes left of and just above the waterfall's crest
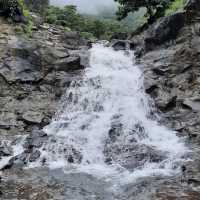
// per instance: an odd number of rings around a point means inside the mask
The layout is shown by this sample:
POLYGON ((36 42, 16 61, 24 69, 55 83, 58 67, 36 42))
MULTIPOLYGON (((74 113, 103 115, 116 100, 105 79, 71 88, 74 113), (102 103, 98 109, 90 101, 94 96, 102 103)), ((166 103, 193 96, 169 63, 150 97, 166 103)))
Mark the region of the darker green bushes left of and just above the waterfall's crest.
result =
POLYGON ((112 17, 81 15, 75 6, 59 8, 49 6, 45 13, 45 21, 50 24, 61 25, 66 30, 78 31, 90 39, 110 39, 113 34, 122 31, 120 22, 112 17))

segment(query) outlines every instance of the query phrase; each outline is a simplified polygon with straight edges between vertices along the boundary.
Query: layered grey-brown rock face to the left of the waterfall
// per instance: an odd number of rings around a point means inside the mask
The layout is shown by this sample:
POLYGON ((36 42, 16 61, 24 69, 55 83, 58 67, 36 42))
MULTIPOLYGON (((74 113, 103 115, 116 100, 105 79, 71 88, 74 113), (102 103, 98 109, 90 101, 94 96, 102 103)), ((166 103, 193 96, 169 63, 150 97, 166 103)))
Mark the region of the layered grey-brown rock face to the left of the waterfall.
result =
POLYGON ((87 41, 60 27, 39 23, 32 38, 14 29, 0 18, 0 140, 28 136, 17 156, 10 143, 0 143, 0 160, 14 156, 4 170, 41 156, 48 140, 41 129, 51 122, 69 84, 81 78, 88 52, 87 41))

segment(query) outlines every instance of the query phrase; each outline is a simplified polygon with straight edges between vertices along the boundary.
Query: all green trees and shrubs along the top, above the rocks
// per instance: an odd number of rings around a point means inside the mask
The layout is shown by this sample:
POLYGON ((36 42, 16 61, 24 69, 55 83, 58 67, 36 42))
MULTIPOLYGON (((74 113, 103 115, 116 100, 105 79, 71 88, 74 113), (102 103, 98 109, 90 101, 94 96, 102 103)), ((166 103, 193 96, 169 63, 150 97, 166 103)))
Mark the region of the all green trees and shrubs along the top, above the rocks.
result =
MULTIPOLYGON (((49 24, 63 26, 65 31, 78 31, 84 38, 110 40, 120 35, 126 36, 135 32, 145 24, 153 23, 157 18, 170 15, 183 8, 186 0, 115 0, 119 3, 115 8, 99 8, 98 14, 88 15, 77 12, 75 6, 49 6, 49 0, 0 0, 0 11, 20 10, 26 23, 21 25, 23 32, 32 35, 33 21, 29 11, 38 12, 49 24), (19 9, 20 8, 20 9, 19 9)), ((145 26, 146 27, 146 26, 145 26)), ((21 32, 20 28, 16 28, 21 32)))

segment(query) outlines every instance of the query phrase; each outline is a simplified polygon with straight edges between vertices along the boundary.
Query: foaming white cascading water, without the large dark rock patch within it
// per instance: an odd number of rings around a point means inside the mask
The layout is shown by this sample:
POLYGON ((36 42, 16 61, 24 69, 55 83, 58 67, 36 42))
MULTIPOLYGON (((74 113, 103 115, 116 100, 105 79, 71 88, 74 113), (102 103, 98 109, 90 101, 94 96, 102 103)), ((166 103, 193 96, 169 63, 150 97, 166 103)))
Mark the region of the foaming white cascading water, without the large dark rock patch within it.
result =
MULTIPOLYGON (((143 88, 143 74, 134 63, 133 52, 114 51, 102 44, 90 50, 90 67, 82 80, 73 82, 67 90, 64 109, 45 128, 50 136, 43 147, 42 159, 53 168, 75 167, 88 173, 128 173, 129 178, 155 173, 170 174, 173 164, 186 151, 176 134, 150 118, 152 111, 143 88), (145 162, 128 172, 119 163, 105 162, 104 148, 114 116, 123 124, 121 141, 129 144, 129 135, 136 124, 145 134, 134 135, 138 144, 161 151, 166 158, 158 163, 145 162), (70 164, 69 154, 80 154, 76 164, 70 164)), ((76 158, 75 158, 76 159, 76 158)))

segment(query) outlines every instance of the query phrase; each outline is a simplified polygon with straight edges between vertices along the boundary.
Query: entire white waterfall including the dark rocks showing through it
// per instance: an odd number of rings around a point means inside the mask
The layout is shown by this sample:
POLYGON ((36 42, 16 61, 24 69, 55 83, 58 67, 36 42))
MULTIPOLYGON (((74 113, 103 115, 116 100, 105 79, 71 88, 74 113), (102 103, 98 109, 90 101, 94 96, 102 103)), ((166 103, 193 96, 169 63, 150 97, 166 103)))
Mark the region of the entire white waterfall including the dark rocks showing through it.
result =
POLYGON ((112 191, 138 178, 179 173, 187 148, 157 122, 134 52, 94 44, 90 67, 71 83, 60 107, 44 129, 49 139, 40 159, 30 168, 89 174, 111 183, 112 191))

